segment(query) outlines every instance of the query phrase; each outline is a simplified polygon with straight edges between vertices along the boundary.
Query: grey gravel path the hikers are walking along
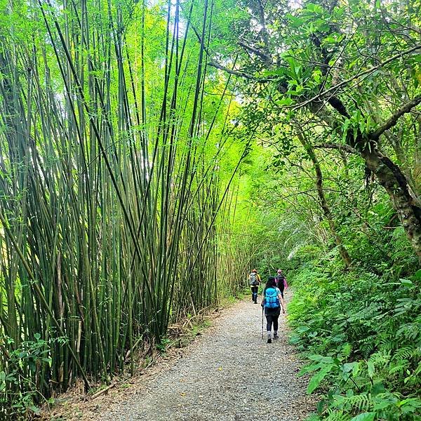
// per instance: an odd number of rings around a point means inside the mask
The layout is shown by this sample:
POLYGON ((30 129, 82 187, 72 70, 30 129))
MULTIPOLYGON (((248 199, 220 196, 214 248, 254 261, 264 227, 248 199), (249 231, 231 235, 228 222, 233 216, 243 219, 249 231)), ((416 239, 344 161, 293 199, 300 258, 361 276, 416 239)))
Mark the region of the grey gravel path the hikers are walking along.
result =
POLYGON ((260 305, 238 302, 130 385, 80 401, 67 415, 50 419, 305 420, 314 411, 314 398, 306 394, 306 378, 297 377, 301 361, 288 344, 285 317, 279 322, 280 338, 268 344, 266 333, 262 340, 260 305))

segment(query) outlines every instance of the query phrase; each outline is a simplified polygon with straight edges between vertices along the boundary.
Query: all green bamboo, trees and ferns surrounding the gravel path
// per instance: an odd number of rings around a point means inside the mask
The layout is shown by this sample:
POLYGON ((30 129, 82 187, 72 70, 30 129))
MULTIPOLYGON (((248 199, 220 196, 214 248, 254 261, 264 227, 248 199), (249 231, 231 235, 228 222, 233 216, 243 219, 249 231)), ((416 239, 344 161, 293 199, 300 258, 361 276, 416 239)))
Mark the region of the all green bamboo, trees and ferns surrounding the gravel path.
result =
POLYGON ((142 338, 163 350, 171 321, 282 267, 309 392, 336 388, 323 417, 410 419, 419 116, 370 134, 420 92, 420 1, 77 6, 0 0, 8 401, 133 372, 142 338))

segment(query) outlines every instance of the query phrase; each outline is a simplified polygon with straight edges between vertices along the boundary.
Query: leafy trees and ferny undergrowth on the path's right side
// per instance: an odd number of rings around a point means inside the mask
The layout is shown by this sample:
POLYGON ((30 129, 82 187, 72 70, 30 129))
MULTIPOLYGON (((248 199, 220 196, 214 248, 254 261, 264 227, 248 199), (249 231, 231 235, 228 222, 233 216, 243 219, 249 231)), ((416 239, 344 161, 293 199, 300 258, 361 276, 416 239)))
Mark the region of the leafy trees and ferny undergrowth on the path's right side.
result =
MULTIPOLYGON (((420 1, 232 4, 240 121, 265 147, 265 173, 248 169, 257 265, 288 268, 296 287, 291 340, 323 392, 314 419, 416 420, 420 1)), ((232 62, 234 47, 213 47, 232 62)))

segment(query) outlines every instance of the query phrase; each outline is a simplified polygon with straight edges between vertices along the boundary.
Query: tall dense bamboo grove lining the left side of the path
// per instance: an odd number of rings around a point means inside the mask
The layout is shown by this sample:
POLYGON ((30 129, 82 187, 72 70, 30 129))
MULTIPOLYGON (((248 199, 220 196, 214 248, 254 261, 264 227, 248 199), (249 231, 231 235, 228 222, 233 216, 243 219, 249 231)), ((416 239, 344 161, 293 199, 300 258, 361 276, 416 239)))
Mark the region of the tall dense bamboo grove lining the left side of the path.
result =
POLYGON ((7 405, 134 370, 169 323, 239 289, 248 253, 227 224, 250 139, 233 140, 232 81, 206 65, 210 2, 1 1, 1 13, 7 405))

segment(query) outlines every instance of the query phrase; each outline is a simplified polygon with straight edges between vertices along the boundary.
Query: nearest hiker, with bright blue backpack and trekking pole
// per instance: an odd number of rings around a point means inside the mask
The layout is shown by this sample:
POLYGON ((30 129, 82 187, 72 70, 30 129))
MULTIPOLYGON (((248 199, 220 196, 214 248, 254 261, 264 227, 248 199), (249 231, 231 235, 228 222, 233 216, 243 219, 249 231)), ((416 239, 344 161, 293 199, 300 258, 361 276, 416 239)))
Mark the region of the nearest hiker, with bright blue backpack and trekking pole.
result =
POLYGON ((266 316, 266 330, 267 330, 267 343, 272 344, 272 324, 274 326, 274 339, 279 339, 278 336, 278 318, 279 314, 286 314, 285 304, 281 295, 281 291, 276 286, 274 276, 269 276, 263 290, 262 307, 265 307, 266 316))

